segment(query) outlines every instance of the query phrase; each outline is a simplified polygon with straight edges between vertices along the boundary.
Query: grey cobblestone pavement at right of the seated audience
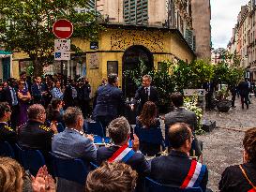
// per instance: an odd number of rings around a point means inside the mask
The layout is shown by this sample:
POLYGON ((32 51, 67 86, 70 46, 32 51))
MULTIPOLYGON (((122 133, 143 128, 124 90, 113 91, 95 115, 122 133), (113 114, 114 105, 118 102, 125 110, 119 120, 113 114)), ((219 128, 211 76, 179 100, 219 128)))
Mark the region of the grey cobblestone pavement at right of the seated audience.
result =
POLYGON ((244 131, 256 126, 256 98, 250 98, 248 110, 242 110, 236 97, 236 108, 229 112, 206 111, 206 119, 214 120, 218 128, 198 136, 203 140, 203 164, 209 170, 208 187, 218 191, 221 173, 226 167, 242 163, 244 131), (227 129, 228 128, 228 129, 227 129))

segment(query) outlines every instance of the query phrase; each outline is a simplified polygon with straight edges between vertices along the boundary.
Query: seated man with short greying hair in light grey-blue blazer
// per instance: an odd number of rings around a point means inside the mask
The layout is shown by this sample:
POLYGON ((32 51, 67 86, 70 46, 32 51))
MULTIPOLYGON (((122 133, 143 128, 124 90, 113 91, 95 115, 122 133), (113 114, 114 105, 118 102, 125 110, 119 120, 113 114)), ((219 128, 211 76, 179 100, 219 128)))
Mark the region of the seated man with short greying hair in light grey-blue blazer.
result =
MULTIPOLYGON (((52 141, 53 154, 60 158, 82 158, 86 165, 90 161, 96 161, 96 147, 93 144, 93 137, 83 135, 83 113, 78 108, 69 107, 64 115, 66 129, 54 135, 52 141)), ((84 186, 59 178, 57 191, 62 192, 83 192, 84 186)))

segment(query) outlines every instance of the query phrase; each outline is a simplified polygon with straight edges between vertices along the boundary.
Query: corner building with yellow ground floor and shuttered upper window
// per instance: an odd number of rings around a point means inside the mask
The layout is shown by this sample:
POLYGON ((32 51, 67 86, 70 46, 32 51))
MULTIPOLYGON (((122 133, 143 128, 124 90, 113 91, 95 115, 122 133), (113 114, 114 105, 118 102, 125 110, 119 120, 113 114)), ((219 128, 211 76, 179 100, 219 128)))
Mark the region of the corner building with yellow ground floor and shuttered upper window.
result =
MULTIPOLYGON (((98 42, 71 39, 81 48, 83 56, 71 55, 71 60, 64 62, 64 74, 72 79, 75 75, 86 76, 91 81, 93 92, 102 78, 114 72, 119 76, 123 91, 128 93, 132 87, 129 87, 124 72, 136 68, 142 61, 157 69, 164 61, 181 59, 191 62, 195 59, 191 0, 94 2, 91 7, 77 8, 77 11, 97 11, 102 15, 106 30, 100 32, 98 42)), ((16 53, 13 62, 20 69, 29 63, 22 53, 16 53)), ((58 72, 59 62, 45 68, 45 73, 58 72)))

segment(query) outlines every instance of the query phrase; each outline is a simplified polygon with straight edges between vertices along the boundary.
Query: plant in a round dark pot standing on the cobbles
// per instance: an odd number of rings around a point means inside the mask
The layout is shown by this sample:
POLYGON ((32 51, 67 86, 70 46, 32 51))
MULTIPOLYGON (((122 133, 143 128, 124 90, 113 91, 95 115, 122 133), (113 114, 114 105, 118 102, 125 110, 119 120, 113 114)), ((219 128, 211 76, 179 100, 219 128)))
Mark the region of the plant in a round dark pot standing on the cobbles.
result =
POLYGON ((216 99, 217 99, 217 109, 221 112, 227 112, 230 110, 232 101, 228 99, 229 92, 227 88, 222 88, 217 92, 216 99))

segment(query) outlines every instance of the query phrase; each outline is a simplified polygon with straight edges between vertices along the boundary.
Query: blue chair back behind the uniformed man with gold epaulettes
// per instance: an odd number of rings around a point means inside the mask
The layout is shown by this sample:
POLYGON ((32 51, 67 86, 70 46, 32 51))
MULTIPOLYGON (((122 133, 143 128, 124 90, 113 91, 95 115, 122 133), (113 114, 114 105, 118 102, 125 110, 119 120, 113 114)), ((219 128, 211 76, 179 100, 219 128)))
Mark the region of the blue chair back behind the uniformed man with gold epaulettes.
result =
POLYGON ((37 175, 38 170, 45 164, 45 159, 39 150, 23 149, 23 163, 26 165, 32 175, 37 175))

